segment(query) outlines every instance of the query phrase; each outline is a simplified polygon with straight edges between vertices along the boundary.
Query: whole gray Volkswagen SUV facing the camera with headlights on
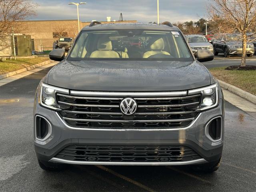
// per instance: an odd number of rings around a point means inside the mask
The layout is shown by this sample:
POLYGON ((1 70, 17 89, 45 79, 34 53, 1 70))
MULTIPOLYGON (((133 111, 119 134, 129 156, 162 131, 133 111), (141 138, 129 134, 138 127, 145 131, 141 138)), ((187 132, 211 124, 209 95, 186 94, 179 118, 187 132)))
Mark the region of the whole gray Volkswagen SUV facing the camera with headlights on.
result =
POLYGON ((64 164, 193 165, 218 169, 224 99, 182 32, 162 24, 83 28, 41 80, 34 102, 34 146, 44 170, 64 164))

